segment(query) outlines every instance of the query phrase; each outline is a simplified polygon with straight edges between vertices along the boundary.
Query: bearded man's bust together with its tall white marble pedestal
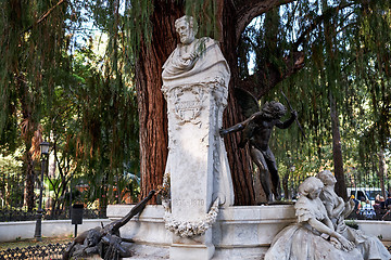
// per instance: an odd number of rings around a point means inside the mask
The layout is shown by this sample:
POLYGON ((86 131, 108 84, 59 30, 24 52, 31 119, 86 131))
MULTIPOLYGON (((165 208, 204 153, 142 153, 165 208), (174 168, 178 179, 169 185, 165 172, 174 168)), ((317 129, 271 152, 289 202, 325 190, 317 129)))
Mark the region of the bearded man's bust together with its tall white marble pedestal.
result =
POLYGON ((218 42, 195 39, 190 16, 176 21, 180 43, 163 66, 167 101, 171 259, 211 259, 213 204, 234 204, 228 159, 218 130, 227 105, 229 67, 218 42), (195 235, 194 235, 195 234, 195 235))

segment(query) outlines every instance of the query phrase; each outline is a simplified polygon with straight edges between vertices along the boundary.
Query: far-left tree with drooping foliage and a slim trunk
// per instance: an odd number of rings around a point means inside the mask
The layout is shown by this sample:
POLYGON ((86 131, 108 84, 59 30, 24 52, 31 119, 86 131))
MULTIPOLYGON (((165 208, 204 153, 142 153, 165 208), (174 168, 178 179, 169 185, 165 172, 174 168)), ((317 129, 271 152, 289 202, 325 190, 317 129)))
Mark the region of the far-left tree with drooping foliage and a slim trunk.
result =
POLYGON ((61 53, 66 49, 66 8, 59 6, 52 11, 54 15, 46 16, 50 8, 51 1, 1 2, 0 145, 13 150, 16 133, 22 136, 28 209, 34 207, 34 157, 39 152, 39 121, 45 104, 50 106, 54 75, 63 65, 61 53))

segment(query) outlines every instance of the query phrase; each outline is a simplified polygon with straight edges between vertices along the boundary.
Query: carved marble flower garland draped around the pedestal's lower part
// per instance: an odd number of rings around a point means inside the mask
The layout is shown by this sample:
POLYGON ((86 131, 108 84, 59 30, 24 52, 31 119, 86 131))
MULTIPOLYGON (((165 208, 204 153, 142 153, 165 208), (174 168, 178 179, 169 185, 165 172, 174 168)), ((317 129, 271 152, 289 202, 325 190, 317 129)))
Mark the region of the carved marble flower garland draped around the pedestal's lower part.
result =
MULTIPOLYGON (((166 172, 163 178, 163 187, 164 190, 169 191, 169 173, 166 172)), ((165 193, 169 196, 169 193, 165 193)), ((197 235, 202 235, 206 232, 209 227, 216 222, 218 213, 218 198, 213 203, 207 214, 199 221, 177 221, 173 218, 171 212, 169 197, 165 196, 163 198, 162 205, 165 209, 164 221, 166 230, 173 232, 174 234, 180 237, 191 237, 197 235)))

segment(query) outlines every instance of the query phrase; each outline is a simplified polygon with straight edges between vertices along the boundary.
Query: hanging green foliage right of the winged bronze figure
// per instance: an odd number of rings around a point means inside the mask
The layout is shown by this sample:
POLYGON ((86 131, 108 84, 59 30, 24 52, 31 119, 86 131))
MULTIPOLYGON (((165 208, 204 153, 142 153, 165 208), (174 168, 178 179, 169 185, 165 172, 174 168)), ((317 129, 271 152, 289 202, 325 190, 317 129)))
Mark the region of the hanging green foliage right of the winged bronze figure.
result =
MULTIPOLYGON (((335 109, 340 114, 338 122, 341 131, 341 158, 348 162, 343 167, 343 171, 340 170, 340 177, 344 178, 351 169, 364 171, 360 165, 368 157, 371 162, 376 161, 375 166, 377 166, 377 153, 387 147, 390 126, 382 125, 381 129, 388 132, 384 135, 369 134, 374 138, 369 143, 358 144, 365 140, 363 133, 369 130, 368 123, 379 126, 379 122, 369 119, 379 115, 376 113, 376 108, 371 107, 380 105, 383 107, 381 113, 383 118, 390 116, 390 109, 387 108, 389 107, 390 90, 386 87, 388 84, 387 76, 383 76, 388 65, 382 62, 384 56, 390 53, 390 4, 383 1, 374 1, 370 4, 344 1, 327 5, 325 1, 313 1, 312 3, 300 1, 289 4, 280 21, 286 24, 282 25, 285 31, 279 32, 285 37, 279 39, 289 39, 289 41, 278 41, 277 44, 288 46, 285 52, 301 50, 305 54, 305 67, 285 80, 280 88, 288 93, 289 99, 299 109, 299 119, 304 126, 308 139, 298 142, 300 135, 292 140, 292 135, 276 132, 278 143, 275 143, 274 150, 277 151, 277 157, 281 158, 281 162, 285 161, 283 164, 289 165, 292 164, 291 157, 293 156, 298 162, 307 165, 304 167, 305 171, 313 172, 312 174, 325 167, 327 159, 332 160, 330 155, 336 155, 336 153, 328 152, 332 129, 330 121, 331 96, 333 98, 331 101, 336 104, 335 109), (305 5, 304 13, 306 15, 301 13, 304 8, 301 4, 305 5), (314 9, 312 4, 315 4, 315 10, 319 10, 321 13, 310 12, 311 9, 314 9), (292 22, 294 16, 304 18, 294 24, 292 22), (301 31, 303 32, 301 34, 301 31), (376 48, 374 48, 374 39, 377 42, 376 48), (374 74, 377 75, 374 76, 374 74), (371 83, 368 83, 367 80, 369 75, 375 79, 371 83), (386 88, 380 90, 376 83, 383 84, 386 88), (382 100, 379 99, 374 103, 375 95, 371 93, 376 92, 371 89, 378 89, 378 96, 382 96, 382 100), (368 103, 370 100, 371 102, 368 103), (363 156, 358 154, 360 147, 364 147, 363 156), (371 156, 368 156, 370 154, 371 156), (317 159, 313 161, 313 157, 317 159), (290 162, 288 162, 289 160, 290 162), (308 166, 312 167, 308 168, 308 166)), ((263 23, 265 26, 261 27, 264 28, 262 30, 267 30, 269 27, 266 26, 266 18, 263 23)), ((253 28, 250 28, 244 36, 251 34, 251 30, 253 28)), ((249 37, 244 38, 244 42, 249 42, 250 44, 247 44, 250 47, 255 46, 255 49, 257 42, 266 41, 262 38, 254 43, 254 40, 247 39, 249 37)), ((265 55, 264 53, 267 53, 268 50, 261 48, 254 52, 256 55, 265 55)), ((257 56, 257 61, 263 61, 263 57, 257 56)), ((258 66, 257 64, 256 66, 258 66)), ((256 69, 257 67, 255 67, 254 76, 256 76, 256 69)), ((280 99, 279 91, 272 91, 268 99, 280 99)), ((294 131, 294 129, 292 130, 294 131)), ((297 167, 297 173, 304 168, 297 167)), ((306 173, 305 171, 303 173, 306 173)), ((375 172, 376 170, 371 171, 371 174, 375 172)), ((344 186, 339 188, 340 193, 345 191, 344 186)))

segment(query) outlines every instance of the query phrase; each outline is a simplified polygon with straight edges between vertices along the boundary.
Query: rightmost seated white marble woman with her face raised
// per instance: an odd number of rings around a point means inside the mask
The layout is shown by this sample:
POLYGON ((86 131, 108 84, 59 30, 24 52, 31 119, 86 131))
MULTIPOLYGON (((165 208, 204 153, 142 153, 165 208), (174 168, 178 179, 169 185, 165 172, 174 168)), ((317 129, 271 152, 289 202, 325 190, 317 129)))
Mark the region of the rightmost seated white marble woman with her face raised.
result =
POLYGON ((345 224, 344 219, 354 209, 354 202, 349 200, 345 203, 336 194, 335 185, 337 180, 331 171, 321 171, 317 174, 317 178, 325 185, 319 197, 326 207, 336 232, 354 243, 365 260, 391 259, 391 255, 377 237, 365 235, 362 231, 354 230, 345 224))

